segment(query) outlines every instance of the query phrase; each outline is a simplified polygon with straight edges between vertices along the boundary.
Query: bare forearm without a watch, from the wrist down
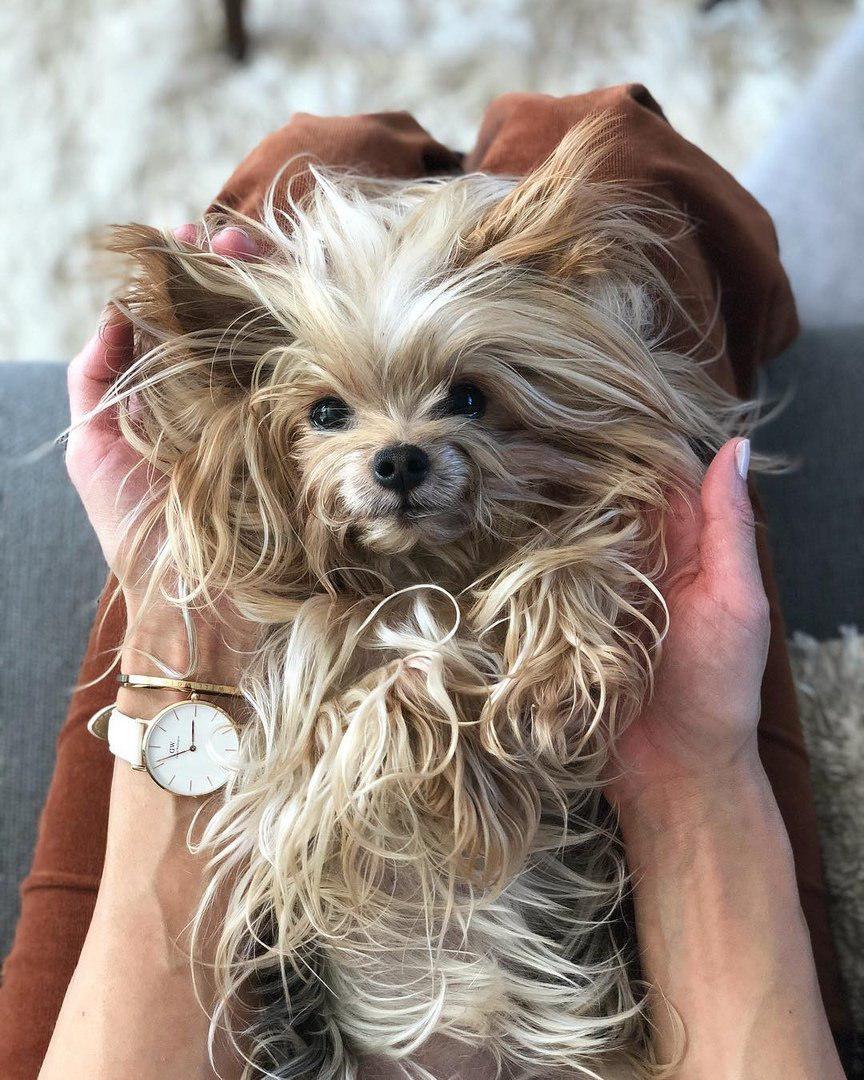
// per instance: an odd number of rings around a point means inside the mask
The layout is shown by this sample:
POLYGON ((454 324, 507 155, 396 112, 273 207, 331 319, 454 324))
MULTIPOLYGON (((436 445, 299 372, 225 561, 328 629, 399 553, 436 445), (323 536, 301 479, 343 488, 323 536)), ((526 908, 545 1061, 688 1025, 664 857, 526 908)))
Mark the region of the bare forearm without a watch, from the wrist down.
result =
POLYGON ((842 1078, 788 837, 755 756, 621 808, 661 1056, 680 1080, 842 1078))

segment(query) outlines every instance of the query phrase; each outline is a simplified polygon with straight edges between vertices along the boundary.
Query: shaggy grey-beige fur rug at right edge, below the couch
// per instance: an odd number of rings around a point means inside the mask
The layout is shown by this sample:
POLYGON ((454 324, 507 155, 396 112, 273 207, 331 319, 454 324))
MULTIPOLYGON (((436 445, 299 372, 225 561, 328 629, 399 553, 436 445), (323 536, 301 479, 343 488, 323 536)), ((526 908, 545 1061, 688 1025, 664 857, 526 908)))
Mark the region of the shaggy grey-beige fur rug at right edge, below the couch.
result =
POLYGON ((849 1009, 864 1032, 864 636, 851 629, 832 642, 796 634, 791 648, 832 926, 849 1009))

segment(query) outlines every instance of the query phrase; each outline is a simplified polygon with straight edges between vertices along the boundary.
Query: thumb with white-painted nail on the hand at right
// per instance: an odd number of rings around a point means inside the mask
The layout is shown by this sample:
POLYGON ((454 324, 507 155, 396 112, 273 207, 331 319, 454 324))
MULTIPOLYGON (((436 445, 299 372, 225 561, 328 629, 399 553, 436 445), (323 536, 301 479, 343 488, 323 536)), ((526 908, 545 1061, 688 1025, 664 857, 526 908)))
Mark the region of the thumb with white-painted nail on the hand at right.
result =
POLYGON ((717 451, 702 481, 699 577, 703 588, 742 619, 765 604, 756 529, 747 489, 750 440, 732 438, 717 451))

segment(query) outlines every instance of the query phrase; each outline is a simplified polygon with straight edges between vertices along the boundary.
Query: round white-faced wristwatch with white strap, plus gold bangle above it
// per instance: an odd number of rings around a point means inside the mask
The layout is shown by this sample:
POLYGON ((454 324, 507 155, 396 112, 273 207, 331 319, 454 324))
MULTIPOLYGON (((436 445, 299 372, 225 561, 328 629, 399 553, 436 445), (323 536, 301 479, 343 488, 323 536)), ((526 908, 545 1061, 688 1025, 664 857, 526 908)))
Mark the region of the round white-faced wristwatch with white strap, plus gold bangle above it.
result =
MULTIPOLYGON (((204 689, 205 684, 147 676, 120 676, 125 686, 204 689)), ((222 787, 237 768, 240 734, 224 710, 193 689, 188 701, 160 710, 152 719, 129 716, 116 705, 95 713, 87 728, 108 743, 117 757, 143 770, 174 795, 210 795, 222 787)), ((210 688, 210 693, 237 696, 233 687, 210 688)))

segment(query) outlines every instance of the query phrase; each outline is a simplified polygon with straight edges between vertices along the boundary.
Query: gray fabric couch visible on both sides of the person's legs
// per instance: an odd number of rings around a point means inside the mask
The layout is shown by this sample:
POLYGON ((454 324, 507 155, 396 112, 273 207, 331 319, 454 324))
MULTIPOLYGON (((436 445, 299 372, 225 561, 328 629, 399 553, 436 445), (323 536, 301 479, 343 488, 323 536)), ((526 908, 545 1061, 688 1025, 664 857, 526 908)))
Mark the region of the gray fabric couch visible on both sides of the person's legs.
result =
MULTIPOLYGON (((797 393, 757 445, 802 458, 761 484, 779 583, 789 626, 821 637, 862 616, 862 351, 864 327, 816 329, 765 373, 769 395, 797 393)), ((66 415, 62 365, 0 364, 0 954, 106 572, 62 451, 31 453, 66 415)))

